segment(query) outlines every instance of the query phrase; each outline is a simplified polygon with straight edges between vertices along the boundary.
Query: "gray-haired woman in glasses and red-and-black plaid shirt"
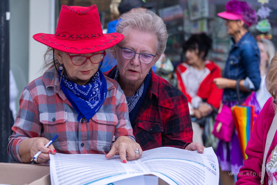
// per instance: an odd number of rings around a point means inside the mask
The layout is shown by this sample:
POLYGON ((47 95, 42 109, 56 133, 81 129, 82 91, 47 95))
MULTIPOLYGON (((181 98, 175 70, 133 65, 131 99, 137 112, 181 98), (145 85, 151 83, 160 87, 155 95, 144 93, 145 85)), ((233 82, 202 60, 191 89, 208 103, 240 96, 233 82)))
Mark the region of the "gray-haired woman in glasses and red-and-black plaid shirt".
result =
POLYGON ((166 50, 168 33, 163 20, 142 8, 120 19, 116 32, 125 39, 114 46, 118 65, 105 75, 124 91, 136 141, 143 150, 170 146, 203 152, 200 143, 191 143, 193 130, 186 96, 152 71, 166 50))

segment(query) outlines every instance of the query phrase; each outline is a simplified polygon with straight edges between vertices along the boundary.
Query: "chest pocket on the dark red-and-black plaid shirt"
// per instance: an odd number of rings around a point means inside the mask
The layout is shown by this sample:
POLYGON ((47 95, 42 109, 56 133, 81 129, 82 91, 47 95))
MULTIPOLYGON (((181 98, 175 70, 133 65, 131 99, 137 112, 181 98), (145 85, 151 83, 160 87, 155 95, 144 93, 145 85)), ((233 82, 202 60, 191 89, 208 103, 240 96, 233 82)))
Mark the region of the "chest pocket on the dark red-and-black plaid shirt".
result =
MULTIPOLYGON (((139 135, 140 138, 137 139, 142 146, 160 147, 163 145, 161 134, 163 133, 164 127, 161 123, 149 123, 146 121, 139 121, 138 123, 139 131, 136 136, 139 135)), ((150 148, 145 148, 148 150, 150 148)))

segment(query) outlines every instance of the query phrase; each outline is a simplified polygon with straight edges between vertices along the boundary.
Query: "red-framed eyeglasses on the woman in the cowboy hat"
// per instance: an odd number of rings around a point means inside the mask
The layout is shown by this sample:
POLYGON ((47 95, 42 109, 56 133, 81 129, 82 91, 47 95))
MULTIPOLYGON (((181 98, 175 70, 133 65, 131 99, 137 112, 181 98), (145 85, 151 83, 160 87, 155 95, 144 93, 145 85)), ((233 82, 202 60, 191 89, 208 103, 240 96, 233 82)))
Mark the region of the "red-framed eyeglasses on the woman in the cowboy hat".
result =
POLYGON ((82 64, 87 62, 87 60, 91 61, 92 64, 99 64, 105 58, 106 52, 103 51, 102 53, 95 53, 89 57, 86 57, 84 55, 72 55, 71 56, 71 55, 69 55, 69 53, 66 53, 66 55, 69 56, 73 65, 81 66, 82 64))

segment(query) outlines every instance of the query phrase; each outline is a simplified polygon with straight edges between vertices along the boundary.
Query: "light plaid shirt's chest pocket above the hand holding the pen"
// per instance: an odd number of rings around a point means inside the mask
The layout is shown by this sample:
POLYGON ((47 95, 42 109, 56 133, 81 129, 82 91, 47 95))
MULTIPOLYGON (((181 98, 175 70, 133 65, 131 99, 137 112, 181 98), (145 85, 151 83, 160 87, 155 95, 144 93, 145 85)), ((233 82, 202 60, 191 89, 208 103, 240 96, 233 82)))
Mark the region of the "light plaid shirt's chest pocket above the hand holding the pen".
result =
POLYGON ((67 146, 69 139, 66 136, 67 129, 67 112, 44 112, 39 114, 39 122, 43 124, 43 133, 46 139, 51 140, 53 137, 58 134, 59 136, 53 142, 53 146, 62 150, 62 146, 67 146))

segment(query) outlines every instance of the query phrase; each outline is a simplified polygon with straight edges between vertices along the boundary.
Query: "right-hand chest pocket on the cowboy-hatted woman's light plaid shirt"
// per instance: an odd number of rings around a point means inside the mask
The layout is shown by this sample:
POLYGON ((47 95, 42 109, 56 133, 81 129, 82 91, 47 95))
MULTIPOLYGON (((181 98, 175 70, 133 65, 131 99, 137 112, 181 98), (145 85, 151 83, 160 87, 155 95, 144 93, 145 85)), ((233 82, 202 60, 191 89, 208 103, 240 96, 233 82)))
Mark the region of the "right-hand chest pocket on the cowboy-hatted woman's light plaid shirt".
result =
POLYGON ((116 132, 118 117, 114 113, 96 113, 89 122, 90 148, 109 151, 116 132), (96 134, 97 133, 97 134, 96 134))

